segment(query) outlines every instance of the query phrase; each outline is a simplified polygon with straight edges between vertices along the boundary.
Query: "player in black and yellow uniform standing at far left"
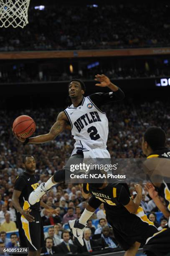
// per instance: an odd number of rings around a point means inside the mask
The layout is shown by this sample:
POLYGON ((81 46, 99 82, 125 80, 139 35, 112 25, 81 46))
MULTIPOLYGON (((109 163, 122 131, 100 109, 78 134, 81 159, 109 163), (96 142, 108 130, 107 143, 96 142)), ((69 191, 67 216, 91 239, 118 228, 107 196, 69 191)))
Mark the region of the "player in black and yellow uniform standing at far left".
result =
POLYGON ((57 214, 52 207, 45 203, 36 202, 30 206, 28 196, 39 184, 34 176, 36 161, 33 156, 26 155, 23 158, 25 172, 20 174, 14 185, 12 202, 17 213, 17 223, 20 236, 20 246, 29 247, 28 256, 39 256, 44 243, 43 222, 40 216, 40 206, 46 208, 48 212, 57 214))

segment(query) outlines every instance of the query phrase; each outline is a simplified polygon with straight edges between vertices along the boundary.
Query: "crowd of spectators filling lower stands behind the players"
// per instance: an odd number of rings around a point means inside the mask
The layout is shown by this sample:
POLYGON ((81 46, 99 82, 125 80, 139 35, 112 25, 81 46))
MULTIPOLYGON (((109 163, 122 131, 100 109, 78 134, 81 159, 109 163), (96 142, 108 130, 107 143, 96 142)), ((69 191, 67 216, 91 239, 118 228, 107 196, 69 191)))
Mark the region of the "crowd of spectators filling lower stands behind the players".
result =
MULTIPOLYGON (((31 154, 36 159, 36 177, 46 182, 56 170, 62 169, 65 159, 71 154, 74 139, 70 130, 61 133, 56 140, 45 144, 27 144, 23 146, 11 132, 13 120, 19 115, 30 115, 36 121, 35 135, 48 133, 56 120, 61 108, 43 108, 37 110, 11 110, 8 114, 0 110, 0 246, 18 246, 19 241, 15 233, 16 211, 11 203, 15 178, 23 172, 22 155, 31 154), (11 231, 10 239, 6 232, 11 231)), ((117 102, 112 108, 104 106, 109 120, 108 150, 113 158, 143 158, 141 139, 145 129, 150 125, 161 126, 167 133, 167 146, 170 146, 170 120, 169 102, 143 102, 133 101, 117 102)), ((129 183, 129 191, 134 195, 134 184, 129 183)), ((43 252, 63 253, 74 252, 76 247, 70 236, 68 220, 79 218, 87 205, 82 197, 82 184, 57 184, 42 197, 43 202, 58 210, 58 216, 41 209, 43 225, 51 225, 45 233, 46 246, 43 252)), ((157 221, 158 209, 147 194, 143 186, 141 206, 157 228, 165 227, 167 219, 162 216, 157 221)), ((104 206, 101 204, 95 214, 88 221, 84 231, 85 245, 78 248, 80 253, 91 251, 97 246, 100 248, 118 248, 112 228, 106 221, 104 206), (91 236, 93 240, 91 240, 91 236)))

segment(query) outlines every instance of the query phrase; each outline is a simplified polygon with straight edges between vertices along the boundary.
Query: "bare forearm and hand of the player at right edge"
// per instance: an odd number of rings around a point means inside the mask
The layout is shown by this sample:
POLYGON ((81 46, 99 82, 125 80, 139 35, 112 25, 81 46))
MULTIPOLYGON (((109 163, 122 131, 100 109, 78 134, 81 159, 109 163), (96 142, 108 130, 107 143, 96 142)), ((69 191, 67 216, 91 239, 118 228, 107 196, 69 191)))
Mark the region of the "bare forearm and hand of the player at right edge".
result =
POLYGON ((155 187, 153 186, 153 184, 152 183, 147 183, 145 187, 146 187, 150 197, 155 202, 155 205, 158 207, 158 209, 163 213, 163 215, 166 218, 169 218, 170 217, 170 212, 167 211, 166 206, 160 200, 158 192, 155 190, 155 187))

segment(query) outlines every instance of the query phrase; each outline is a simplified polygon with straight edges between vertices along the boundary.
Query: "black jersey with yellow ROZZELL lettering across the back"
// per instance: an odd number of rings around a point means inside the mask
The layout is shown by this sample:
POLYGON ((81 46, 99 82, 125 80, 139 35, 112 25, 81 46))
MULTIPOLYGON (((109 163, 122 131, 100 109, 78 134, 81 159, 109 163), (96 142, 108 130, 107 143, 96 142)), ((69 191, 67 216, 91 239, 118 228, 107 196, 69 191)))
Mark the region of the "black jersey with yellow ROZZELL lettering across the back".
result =
MULTIPOLYGON (((131 200, 126 183, 109 183, 104 189, 93 189, 92 184, 85 183, 83 184, 83 190, 86 194, 90 193, 96 197, 96 199, 100 200, 100 204, 101 202, 104 203, 106 214, 130 214, 129 211, 124 207, 124 205, 127 205, 131 200)), ((96 207, 99 207, 99 205, 96 205, 96 207)))

